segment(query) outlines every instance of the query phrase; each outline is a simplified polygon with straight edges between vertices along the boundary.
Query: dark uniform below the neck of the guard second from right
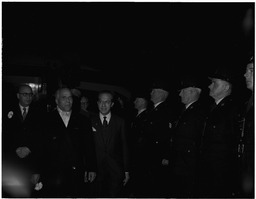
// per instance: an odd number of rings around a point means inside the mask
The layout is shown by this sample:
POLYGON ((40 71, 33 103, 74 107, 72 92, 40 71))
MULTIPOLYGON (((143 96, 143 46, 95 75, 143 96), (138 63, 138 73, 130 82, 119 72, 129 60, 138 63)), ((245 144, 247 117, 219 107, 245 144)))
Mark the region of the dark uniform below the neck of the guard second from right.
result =
POLYGON ((206 118, 201 166, 209 196, 231 197, 237 191, 238 121, 238 106, 231 96, 212 108, 206 118))

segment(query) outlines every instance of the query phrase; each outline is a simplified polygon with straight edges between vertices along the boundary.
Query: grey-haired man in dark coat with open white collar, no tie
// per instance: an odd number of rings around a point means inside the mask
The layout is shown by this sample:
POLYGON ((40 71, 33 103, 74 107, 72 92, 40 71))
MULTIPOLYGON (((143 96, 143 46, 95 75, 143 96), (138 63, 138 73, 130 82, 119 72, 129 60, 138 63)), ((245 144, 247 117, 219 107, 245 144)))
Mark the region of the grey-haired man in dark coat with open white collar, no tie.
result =
POLYGON ((57 107, 45 128, 45 196, 85 197, 84 182, 96 177, 96 155, 90 120, 72 111, 70 89, 57 90, 57 107))

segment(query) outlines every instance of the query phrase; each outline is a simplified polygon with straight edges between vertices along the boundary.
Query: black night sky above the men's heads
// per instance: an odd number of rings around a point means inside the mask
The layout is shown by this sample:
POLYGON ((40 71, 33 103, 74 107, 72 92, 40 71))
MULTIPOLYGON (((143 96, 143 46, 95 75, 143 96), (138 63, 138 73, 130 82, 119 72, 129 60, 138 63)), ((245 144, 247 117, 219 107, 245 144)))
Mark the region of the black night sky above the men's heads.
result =
POLYGON ((3 74, 20 71, 11 63, 25 54, 61 59, 81 81, 129 89, 207 76, 224 59, 241 72, 254 52, 249 9, 254 19, 254 3, 3 2, 3 74))

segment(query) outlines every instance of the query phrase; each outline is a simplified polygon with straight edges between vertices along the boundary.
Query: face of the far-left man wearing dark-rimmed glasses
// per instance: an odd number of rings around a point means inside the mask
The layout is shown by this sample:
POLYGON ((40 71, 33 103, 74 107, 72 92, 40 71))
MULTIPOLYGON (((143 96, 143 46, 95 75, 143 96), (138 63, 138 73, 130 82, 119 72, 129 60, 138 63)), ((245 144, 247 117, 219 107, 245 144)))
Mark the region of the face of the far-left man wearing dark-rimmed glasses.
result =
POLYGON ((17 98, 21 106, 29 106, 33 100, 32 89, 29 86, 22 86, 17 93, 17 98))

